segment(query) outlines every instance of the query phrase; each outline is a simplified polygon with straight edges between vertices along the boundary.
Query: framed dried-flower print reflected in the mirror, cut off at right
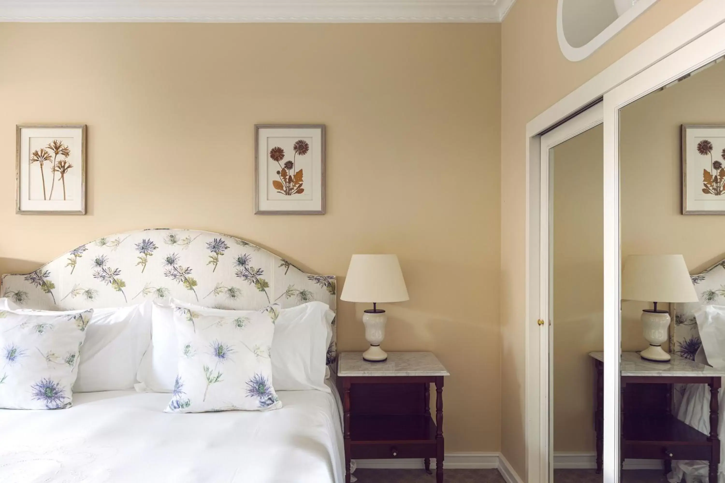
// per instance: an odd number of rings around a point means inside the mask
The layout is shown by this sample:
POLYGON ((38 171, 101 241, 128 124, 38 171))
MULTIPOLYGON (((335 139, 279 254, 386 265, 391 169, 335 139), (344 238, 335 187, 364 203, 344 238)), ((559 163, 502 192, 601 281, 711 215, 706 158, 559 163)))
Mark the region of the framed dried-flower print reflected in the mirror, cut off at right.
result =
POLYGON ((682 125, 682 214, 725 214, 725 125, 682 125))

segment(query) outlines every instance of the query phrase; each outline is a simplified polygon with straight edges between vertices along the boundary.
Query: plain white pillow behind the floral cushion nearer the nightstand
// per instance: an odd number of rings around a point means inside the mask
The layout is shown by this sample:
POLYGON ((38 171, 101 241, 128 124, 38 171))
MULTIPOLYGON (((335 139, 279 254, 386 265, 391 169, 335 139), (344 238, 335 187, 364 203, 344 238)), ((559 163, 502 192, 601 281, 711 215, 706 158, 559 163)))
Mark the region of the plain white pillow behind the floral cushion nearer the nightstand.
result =
MULTIPOLYGON (((172 303, 202 315, 248 316, 254 313, 207 308, 176 300, 172 303)), ((330 392, 324 379, 334 316, 326 303, 318 301, 281 309, 272 341, 272 371, 277 390, 330 392)), ((179 356, 173 308, 154 303, 152 324, 152 343, 138 368, 136 389, 173 392, 179 356)))

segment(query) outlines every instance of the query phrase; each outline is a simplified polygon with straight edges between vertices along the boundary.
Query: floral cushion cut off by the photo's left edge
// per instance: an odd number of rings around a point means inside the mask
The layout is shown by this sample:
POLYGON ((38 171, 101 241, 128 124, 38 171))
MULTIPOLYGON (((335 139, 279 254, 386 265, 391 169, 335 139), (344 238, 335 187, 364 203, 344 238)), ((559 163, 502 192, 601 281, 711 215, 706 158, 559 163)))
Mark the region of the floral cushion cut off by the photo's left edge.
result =
POLYGON ((92 315, 93 309, 58 316, 0 310, 0 408, 71 405, 92 315))

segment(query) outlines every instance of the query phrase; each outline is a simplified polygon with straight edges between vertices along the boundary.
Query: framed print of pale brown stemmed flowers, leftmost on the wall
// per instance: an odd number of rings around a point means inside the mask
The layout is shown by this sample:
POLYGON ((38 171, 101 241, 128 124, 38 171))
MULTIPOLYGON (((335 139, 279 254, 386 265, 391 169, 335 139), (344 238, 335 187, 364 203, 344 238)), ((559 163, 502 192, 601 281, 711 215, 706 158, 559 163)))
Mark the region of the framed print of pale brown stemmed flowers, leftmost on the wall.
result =
POLYGON ((16 126, 17 214, 86 214, 86 125, 16 126))

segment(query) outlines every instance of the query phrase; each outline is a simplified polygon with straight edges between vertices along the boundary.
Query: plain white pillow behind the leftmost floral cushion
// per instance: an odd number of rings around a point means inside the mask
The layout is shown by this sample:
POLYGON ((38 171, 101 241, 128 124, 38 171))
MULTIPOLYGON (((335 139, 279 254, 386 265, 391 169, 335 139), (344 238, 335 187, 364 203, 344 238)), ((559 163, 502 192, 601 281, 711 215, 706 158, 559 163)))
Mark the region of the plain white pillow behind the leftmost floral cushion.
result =
MULTIPOLYGON (((78 311, 41 311, 19 308, 7 298, 0 309, 17 314, 57 316, 78 311)), ((135 306, 96 308, 86 328, 86 340, 80 349, 78 377, 73 392, 132 389, 144 352, 151 343, 152 302, 135 306)))

